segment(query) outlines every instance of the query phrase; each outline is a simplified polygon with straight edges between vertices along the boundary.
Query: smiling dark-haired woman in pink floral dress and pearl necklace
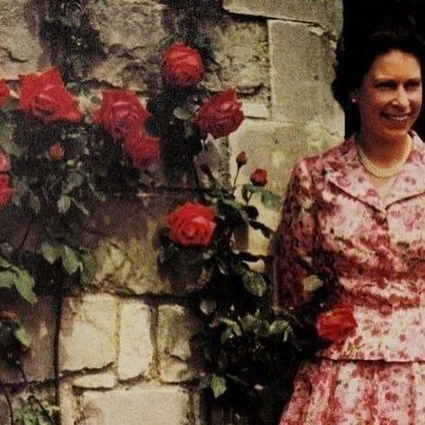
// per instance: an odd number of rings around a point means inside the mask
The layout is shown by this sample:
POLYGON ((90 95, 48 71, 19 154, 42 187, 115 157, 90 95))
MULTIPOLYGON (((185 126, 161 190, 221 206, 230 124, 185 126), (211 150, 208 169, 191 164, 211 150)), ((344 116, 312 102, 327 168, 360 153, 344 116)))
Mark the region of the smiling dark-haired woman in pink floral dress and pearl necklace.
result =
POLYGON ((356 43, 340 43, 334 82, 356 132, 299 161, 283 210, 283 298, 305 303, 311 273, 327 274, 341 304, 281 425, 425 424, 424 48, 394 29, 356 43))

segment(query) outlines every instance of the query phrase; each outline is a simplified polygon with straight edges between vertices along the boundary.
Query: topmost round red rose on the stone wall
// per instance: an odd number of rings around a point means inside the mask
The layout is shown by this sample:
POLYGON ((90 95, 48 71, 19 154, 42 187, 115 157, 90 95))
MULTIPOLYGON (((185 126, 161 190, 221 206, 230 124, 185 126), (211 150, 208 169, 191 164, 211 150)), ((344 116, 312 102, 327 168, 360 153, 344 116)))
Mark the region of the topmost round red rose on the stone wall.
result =
POLYGON ((202 74, 204 65, 195 48, 174 43, 162 55, 162 75, 171 85, 190 87, 201 81, 202 74))

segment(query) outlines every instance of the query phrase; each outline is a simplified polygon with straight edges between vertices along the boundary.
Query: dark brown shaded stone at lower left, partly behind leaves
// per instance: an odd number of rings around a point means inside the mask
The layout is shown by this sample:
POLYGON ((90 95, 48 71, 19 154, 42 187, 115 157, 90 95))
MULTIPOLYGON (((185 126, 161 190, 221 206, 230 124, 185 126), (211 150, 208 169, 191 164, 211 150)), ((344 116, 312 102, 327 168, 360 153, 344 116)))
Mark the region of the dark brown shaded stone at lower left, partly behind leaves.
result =
MULTIPOLYGON (((50 297, 39 299, 31 307, 22 301, 7 305, 16 311, 22 325, 32 337, 30 351, 22 358, 22 366, 30 381, 43 381, 53 377, 53 339, 55 334, 55 300, 50 297)), ((15 369, 1 363, 0 379, 4 382, 22 382, 22 376, 15 369)))

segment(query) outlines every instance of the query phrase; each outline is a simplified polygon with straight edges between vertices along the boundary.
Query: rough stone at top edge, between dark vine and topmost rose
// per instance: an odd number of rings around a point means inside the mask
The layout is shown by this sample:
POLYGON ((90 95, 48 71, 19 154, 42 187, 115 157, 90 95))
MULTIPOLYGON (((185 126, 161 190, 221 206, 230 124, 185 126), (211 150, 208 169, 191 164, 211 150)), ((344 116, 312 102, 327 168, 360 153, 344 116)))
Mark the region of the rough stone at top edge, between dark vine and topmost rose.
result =
POLYGON ((161 24, 164 7, 153 0, 93 5, 91 22, 100 31, 107 57, 94 65, 92 76, 115 87, 146 91, 146 75, 159 63, 158 45, 166 36, 161 24))

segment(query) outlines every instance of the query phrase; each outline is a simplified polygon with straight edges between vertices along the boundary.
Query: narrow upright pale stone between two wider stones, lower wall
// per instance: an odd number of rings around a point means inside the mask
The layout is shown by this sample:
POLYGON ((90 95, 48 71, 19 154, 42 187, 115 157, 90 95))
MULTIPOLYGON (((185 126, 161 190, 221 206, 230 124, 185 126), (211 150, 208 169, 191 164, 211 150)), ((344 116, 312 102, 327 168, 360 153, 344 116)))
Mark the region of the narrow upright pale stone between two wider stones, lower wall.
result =
POLYGON ((125 301, 121 308, 118 378, 148 375, 152 356, 150 308, 140 301, 125 301))

